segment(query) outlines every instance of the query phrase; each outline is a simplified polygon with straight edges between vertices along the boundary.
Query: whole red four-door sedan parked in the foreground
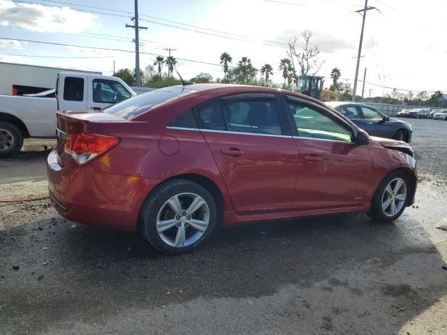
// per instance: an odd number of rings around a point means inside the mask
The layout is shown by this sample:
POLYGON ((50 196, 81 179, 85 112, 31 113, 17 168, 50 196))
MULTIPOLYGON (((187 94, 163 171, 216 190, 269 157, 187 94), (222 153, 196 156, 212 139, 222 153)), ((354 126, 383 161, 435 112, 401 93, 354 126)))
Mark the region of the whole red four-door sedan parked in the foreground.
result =
POLYGON ((68 220, 141 230, 165 253, 219 225, 413 204, 409 144, 371 137, 323 103, 265 87, 167 87, 101 113, 58 112, 50 200, 68 220))

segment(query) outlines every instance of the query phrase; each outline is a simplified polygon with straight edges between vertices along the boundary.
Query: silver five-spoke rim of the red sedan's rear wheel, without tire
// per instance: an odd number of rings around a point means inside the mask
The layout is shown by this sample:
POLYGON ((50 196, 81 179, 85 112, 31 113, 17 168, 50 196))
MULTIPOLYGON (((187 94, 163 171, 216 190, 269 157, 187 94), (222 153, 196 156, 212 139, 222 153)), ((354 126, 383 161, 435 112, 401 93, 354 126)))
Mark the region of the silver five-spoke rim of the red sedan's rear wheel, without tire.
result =
POLYGON ((196 243, 210 224, 210 209, 200 195, 179 193, 163 204, 156 216, 159 237, 175 248, 196 243))

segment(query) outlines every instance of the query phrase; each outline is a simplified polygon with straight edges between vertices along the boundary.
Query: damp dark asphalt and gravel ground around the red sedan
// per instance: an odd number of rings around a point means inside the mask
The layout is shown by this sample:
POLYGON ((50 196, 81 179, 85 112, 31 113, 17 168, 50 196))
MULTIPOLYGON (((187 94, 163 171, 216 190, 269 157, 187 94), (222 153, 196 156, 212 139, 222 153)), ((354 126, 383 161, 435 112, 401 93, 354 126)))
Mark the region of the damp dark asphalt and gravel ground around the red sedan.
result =
MULTIPOLYGON (((405 121, 420 184, 393 224, 246 225, 168 257, 47 200, 0 204, 0 334, 447 334, 447 122, 405 121)), ((45 191, 46 154, 1 160, 0 200, 45 191)))

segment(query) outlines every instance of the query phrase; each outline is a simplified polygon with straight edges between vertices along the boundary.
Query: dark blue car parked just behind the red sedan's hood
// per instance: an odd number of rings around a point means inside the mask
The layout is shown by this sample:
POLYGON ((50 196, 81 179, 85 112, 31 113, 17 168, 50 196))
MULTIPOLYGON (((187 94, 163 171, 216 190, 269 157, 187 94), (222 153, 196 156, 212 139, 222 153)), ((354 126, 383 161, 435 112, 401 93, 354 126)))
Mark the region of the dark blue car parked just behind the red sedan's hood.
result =
POLYGON ((390 119, 372 106, 340 101, 330 101, 325 104, 335 108, 357 126, 367 131, 369 135, 411 142, 413 134, 411 124, 390 119))

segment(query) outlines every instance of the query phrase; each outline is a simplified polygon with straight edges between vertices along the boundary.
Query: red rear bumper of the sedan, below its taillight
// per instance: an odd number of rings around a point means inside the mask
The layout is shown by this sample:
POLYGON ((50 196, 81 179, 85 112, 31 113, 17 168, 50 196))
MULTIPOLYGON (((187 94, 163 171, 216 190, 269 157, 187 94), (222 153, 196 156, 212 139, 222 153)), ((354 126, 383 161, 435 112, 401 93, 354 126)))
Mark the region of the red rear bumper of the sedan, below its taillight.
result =
POLYGON ((56 151, 47 158, 50 202, 64 218, 101 227, 133 230, 154 179, 98 172, 74 161, 61 166, 56 151))

